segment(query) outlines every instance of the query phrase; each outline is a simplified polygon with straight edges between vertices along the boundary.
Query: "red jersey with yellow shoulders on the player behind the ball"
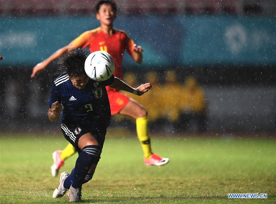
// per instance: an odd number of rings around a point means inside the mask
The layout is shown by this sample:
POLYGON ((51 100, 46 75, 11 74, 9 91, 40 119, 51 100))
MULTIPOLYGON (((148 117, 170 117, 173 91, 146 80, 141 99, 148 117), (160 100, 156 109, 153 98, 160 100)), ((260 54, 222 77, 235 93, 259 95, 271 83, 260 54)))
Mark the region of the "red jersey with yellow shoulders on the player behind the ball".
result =
MULTIPOLYGON (((91 53, 98 50, 109 53, 115 62, 115 71, 113 75, 114 77, 122 79, 122 60, 124 51, 126 50, 129 55, 131 55, 134 45, 133 40, 128 37, 124 31, 113 29, 112 35, 107 35, 101 28, 96 28, 82 33, 72 44, 78 45, 79 42, 84 44, 82 48, 89 47, 91 53)), ((111 90, 112 88, 108 86, 106 89, 111 90)))

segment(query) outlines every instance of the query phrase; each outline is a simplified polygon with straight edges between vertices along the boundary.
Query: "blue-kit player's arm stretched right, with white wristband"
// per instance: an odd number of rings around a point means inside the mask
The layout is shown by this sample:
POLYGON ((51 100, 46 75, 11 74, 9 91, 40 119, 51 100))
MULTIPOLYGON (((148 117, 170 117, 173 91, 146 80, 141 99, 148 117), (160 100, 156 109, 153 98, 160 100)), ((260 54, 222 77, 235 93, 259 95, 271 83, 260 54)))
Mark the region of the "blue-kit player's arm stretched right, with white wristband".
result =
POLYGON ((133 93, 133 94, 138 95, 138 96, 141 96, 145 92, 148 92, 149 89, 152 89, 152 86, 151 86, 150 83, 141 84, 137 88, 132 88, 131 86, 129 86, 128 84, 126 84, 122 80, 118 79, 117 77, 114 77, 113 83, 110 84, 109 86, 112 87, 112 88, 116 88, 116 89, 120 89, 120 90, 123 90, 123 91, 133 93))

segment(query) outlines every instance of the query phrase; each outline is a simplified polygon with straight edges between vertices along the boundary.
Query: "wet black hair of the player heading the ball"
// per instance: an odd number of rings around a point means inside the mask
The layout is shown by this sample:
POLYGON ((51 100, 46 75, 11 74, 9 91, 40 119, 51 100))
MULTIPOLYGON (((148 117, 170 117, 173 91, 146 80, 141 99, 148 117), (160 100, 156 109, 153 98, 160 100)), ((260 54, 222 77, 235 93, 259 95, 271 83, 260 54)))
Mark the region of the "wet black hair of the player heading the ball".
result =
POLYGON ((59 73, 66 72, 69 78, 80 77, 86 74, 84 70, 84 62, 87 58, 85 49, 75 48, 59 58, 59 73))

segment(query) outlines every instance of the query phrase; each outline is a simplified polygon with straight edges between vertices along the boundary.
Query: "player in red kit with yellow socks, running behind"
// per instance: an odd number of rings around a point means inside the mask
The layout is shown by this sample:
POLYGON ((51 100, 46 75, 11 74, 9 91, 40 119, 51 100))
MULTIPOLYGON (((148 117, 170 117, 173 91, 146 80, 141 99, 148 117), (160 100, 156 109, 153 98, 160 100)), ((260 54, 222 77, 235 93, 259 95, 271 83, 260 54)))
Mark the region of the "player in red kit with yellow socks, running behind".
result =
MULTIPOLYGON (((143 49, 136 46, 133 40, 122 30, 113 28, 113 22, 116 18, 117 7, 112 0, 102 0, 96 5, 96 18, 100 21, 99 28, 86 31, 73 40, 69 45, 57 50, 43 62, 33 68, 31 77, 42 72, 48 64, 61 55, 68 53, 75 48, 89 47, 90 52, 102 50, 109 53, 115 62, 114 77, 122 79, 122 58, 124 51, 136 63, 143 60, 143 49)), ((131 98, 121 94, 118 90, 106 87, 109 98, 111 115, 121 114, 136 119, 136 130, 144 151, 144 163, 146 165, 161 166, 169 162, 168 158, 161 158, 159 155, 152 153, 150 138, 148 135, 148 117, 146 109, 131 98)), ((51 167, 52 175, 56 176, 58 170, 63 166, 64 160, 75 153, 75 149, 69 144, 63 151, 53 153, 54 164, 51 167)))

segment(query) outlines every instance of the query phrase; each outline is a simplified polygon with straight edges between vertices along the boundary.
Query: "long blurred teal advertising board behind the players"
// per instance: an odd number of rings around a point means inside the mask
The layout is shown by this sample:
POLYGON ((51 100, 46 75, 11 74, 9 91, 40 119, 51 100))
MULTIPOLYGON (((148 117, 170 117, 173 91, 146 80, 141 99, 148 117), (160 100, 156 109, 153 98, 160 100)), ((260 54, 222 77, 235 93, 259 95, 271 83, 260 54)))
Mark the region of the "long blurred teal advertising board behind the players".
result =
MULTIPOLYGON (((145 67, 275 65, 275 17, 121 16, 114 27, 144 48, 145 67)), ((33 66, 99 22, 90 17, 3 17, 0 53, 7 66, 33 66)), ((124 65, 134 65, 125 54, 124 65)))

